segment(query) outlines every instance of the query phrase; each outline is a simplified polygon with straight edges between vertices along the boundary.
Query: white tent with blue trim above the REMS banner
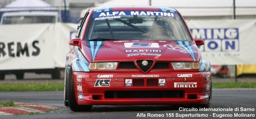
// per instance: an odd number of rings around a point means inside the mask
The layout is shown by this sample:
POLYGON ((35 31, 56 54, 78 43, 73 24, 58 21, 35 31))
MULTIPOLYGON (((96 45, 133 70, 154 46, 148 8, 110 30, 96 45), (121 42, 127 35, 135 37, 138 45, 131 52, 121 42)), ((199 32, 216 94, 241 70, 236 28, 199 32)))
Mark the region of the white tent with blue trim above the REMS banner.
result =
MULTIPOLYGON (((9 21, 8 23, 10 24, 32 23, 32 21, 37 23, 36 21, 39 21, 30 17, 30 19, 23 19, 23 21, 20 22, 21 20, 13 18, 20 17, 20 19, 22 19, 24 16, 37 16, 37 18, 39 18, 38 16, 51 16, 54 18, 55 22, 57 22, 58 17, 60 17, 59 11, 43 0, 16 0, 0 9, 0 24, 5 24, 7 23, 6 21, 9 21), (7 17, 12 18, 8 20, 7 17)), ((48 19, 51 21, 51 18, 48 19)))

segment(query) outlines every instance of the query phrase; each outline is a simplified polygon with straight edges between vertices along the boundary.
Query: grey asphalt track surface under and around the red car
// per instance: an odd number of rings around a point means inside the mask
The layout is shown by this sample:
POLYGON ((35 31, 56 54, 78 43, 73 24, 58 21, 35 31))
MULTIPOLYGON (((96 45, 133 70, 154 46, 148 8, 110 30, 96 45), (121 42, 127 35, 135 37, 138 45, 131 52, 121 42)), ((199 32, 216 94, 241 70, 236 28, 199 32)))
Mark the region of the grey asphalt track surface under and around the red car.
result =
MULTIPOLYGON (((90 112, 73 112, 63 104, 63 92, 0 92, 0 101, 14 100, 15 102, 28 102, 48 104, 61 107, 58 111, 47 114, 4 116, 0 119, 171 119, 177 117, 166 117, 166 113, 178 114, 208 114, 208 117, 194 117, 197 119, 234 119, 234 113, 254 114, 256 111, 222 111, 222 112, 199 112, 179 111, 179 106, 93 106, 90 112), (146 114, 146 117, 137 117, 138 113, 146 114), (164 114, 164 117, 147 117, 150 114, 164 114), (232 114, 233 117, 213 117, 216 114, 232 114)), ((183 106, 186 107, 186 106, 183 106)), ((256 108, 256 89, 213 89, 213 97, 210 108, 256 108)), ((181 117, 178 117, 181 118, 181 117)), ((190 119, 184 117, 183 119, 190 119)), ((192 117, 193 118, 193 117, 192 117)), ((236 119, 242 119, 238 117, 236 119)), ((255 119, 256 117, 246 117, 255 119)))

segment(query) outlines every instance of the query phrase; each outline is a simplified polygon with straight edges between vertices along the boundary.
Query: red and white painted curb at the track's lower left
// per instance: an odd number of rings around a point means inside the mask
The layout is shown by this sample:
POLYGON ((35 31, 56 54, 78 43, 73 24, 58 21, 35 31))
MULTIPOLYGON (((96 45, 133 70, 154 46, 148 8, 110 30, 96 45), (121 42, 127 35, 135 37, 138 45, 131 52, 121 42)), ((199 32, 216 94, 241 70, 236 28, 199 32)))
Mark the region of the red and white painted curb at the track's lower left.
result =
POLYGON ((31 112, 38 113, 43 111, 50 111, 58 109, 55 106, 32 104, 32 103, 14 103, 17 107, 3 107, 0 108, 0 116, 28 114, 31 112))

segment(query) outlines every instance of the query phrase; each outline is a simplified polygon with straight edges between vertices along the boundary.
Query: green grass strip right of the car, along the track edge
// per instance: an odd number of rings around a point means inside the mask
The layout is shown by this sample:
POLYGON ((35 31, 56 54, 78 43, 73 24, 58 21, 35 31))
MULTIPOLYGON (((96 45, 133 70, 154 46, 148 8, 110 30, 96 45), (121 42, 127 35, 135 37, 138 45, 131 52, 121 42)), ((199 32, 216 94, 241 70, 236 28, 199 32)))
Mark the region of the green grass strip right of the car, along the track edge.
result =
POLYGON ((256 82, 212 82, 215 89, 222 88, 256 88, 256 82))

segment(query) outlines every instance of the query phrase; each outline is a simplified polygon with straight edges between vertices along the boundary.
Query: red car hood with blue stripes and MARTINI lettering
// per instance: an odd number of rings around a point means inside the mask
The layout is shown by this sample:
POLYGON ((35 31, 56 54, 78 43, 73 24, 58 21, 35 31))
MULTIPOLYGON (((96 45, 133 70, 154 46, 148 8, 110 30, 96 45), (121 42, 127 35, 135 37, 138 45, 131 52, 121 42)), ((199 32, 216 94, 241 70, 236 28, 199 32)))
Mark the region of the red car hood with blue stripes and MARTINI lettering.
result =
POLYGON ((133 61, 144 58, 198 62, 200 58, 194 41, 82 41, 81 52, 89 62, 133 61))

